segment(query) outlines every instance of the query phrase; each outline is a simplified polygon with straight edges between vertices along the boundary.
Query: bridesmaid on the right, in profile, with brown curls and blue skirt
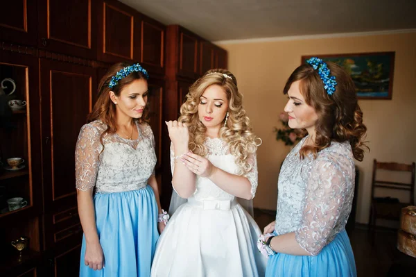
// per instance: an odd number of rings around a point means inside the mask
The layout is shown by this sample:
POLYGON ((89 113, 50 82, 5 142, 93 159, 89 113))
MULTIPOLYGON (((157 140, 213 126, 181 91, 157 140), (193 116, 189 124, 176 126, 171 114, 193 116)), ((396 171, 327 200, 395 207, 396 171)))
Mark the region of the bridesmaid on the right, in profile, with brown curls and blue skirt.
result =
POLYGON ((284 94, 289 126, 308 135, 284 160, 276 221, 259 238, 269 254, 266 276, 356 276, 345 224, 367 128, 354 83, 338 65, 311 58, 288 78, 284 94))

